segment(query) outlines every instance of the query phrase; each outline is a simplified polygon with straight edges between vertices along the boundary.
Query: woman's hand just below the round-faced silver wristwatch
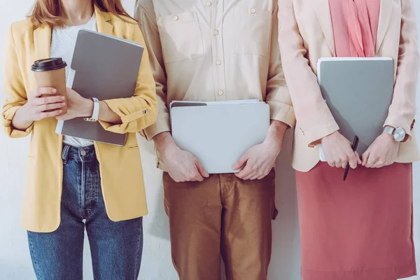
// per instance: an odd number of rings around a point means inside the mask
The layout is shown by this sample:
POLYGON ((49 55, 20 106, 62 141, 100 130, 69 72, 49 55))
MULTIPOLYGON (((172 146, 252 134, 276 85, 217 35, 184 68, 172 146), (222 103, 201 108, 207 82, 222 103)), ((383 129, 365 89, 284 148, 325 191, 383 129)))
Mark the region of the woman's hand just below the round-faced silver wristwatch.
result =
POLYGON ((391 134, 382 133, 363 153, 362 165, 367 168, 381 168, 392 165, 398 155, 400 144, 391 134))

